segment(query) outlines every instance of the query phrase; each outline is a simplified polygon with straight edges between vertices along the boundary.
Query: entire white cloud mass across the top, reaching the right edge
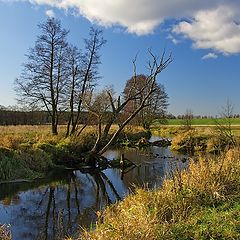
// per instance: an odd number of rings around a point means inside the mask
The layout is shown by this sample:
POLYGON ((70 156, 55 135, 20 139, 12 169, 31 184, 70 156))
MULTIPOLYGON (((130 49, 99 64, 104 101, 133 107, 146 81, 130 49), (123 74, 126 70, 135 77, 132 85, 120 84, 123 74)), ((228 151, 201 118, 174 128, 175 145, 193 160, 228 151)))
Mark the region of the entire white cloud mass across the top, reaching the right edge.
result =
POLYGON ((15 1, 74 10, 91 22, 102 26, 121 26, 137 35, 152 33, 166 20, 175 20, 169 35, 173 42, 178 43, 176 36, 183 35, 193 41, 195 48, 213 49, 223 54, 240 53, 239 0, 15 1))

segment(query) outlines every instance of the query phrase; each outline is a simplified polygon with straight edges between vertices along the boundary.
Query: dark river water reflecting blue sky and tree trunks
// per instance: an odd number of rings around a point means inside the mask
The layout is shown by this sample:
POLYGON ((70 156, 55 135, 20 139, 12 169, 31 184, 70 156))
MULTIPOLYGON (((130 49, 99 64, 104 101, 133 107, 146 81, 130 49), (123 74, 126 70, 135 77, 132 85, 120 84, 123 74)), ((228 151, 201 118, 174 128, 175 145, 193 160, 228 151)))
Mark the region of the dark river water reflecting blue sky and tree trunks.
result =
POLYGON ((160 187, 165 176, 184 168, 184 156, 169 148, 118 149, 108 159, 125 158, 136 167, 99 171, 62 171, 49 179, 0 184, 0 223, 9 224, 13 240, 59 239, 81 227, 91 229, 97 211, 123 199, 136 187, 160 187))

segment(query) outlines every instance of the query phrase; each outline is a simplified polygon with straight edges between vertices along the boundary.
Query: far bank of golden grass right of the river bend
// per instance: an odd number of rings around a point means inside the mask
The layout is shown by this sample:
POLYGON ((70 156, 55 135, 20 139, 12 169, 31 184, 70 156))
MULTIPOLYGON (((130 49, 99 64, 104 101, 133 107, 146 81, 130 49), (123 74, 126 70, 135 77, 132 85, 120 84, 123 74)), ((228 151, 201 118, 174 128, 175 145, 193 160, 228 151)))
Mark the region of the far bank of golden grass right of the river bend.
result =
POLYGON ((162 126, 153 125, 151 132, 172 139, 171 150, 183 154, 217 153, 240 143, 239 126, 162 126))

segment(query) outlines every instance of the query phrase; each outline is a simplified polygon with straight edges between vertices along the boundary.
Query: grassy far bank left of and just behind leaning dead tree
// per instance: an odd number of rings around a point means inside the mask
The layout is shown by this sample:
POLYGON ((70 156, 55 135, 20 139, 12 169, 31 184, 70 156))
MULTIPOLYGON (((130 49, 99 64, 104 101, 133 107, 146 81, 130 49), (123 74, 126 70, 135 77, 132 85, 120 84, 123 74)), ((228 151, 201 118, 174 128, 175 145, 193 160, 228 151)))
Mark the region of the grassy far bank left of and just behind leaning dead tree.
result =
MULTIPOLYGON (((0 181, 44 177, 58 165, 83 163, 83 154, 93 147, 97 138, 95 128, 90 126, 80 136, 68 138, 65 138, 65 128, 61 126, 59 134, 52 136, 49 126, 0 127, 0 181)), ((118 143, 146 136, 142 128, 128 127, 118 143)))

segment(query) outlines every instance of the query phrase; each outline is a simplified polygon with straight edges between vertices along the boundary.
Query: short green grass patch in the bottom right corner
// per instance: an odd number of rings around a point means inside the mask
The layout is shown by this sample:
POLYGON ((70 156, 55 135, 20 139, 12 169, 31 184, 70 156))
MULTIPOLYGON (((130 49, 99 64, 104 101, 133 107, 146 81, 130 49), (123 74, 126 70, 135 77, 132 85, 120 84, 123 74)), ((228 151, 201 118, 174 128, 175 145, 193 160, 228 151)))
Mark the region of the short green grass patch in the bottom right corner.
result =
MULTIPOLYGON (((161 233, 161 232, 160 232, 161 233)), ((160 236, 159 237, 164 237, 160 236)), ((169 239, 240 239, 240 199, 229 206, 192 211, 188 218, 171 226, 169 239)))

